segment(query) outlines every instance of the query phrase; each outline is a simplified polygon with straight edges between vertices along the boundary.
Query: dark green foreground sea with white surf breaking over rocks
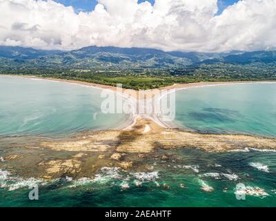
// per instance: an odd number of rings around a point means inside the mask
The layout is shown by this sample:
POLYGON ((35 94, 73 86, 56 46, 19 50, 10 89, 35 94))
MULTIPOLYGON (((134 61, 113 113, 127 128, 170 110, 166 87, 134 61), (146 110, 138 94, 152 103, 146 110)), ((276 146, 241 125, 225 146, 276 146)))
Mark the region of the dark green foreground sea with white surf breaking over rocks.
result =
MULTIPOLYGON (((6 186, 0 189, 0 206, 276 206, 276 153, 206 153, 192 149, 159 153, 169 158, 148 159, 152 171, 106 167, 93 177, 77 181, 66 177, 41 183, 35 202, 28 200, 28 180, 25 188, 9 191, 6 186), (251 166, 254 162, 267 166, 268 171, 251 166), (248 189, 259 187, 261 195, 251 191, 246 200, 237 200, 235 188, 239 183, 248 189), (202 190, 204 186, 213 191, 202 190)), ((0 180, 3 185, 1 175, 0 180)))

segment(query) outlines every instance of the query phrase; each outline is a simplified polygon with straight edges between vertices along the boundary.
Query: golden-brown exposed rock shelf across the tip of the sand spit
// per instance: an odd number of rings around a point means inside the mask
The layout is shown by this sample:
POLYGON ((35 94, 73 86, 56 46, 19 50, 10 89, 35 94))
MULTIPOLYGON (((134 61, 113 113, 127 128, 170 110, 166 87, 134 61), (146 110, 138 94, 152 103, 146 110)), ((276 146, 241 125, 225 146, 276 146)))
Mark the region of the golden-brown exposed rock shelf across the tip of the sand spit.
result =
MULTIPOLYGON (((199 148, 210 152, 244 148, 275 150, 276 139, 250 135, 193 133, 163 128, 149 119, 140 118, 127 131, 97 131, 91 134, 87 133, 86 140, 83 140, 83 136, 79 136, 69 140, 46 140, 40 142, 40 145, 56 151, 108 151, 110 148, 115 148, 119 153, 138 153, 142 158, 144 153, 155 151, 155 148, 199 148), (151 130, 149 133, 142 133, 146 124, 150 126, 151 130)), ((160 158, 159 155, 158 158, 160 158)), ((163 157, 163 160, 166 160, 166 156, 163 157)))

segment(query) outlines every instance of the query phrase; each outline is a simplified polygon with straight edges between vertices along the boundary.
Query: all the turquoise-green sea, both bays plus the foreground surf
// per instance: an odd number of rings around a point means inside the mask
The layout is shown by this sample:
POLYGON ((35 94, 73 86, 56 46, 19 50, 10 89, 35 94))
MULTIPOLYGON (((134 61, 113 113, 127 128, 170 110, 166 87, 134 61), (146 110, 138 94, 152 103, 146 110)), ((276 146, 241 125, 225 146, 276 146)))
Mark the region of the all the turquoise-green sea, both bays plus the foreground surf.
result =
MULTIPOLYGON (((0 83, 2 135, 70 134, 117 126, 125 120, 121 115, 91 117, 99 111, 98 90, 30 79, 0 78, 0 83)), ((275 92, 276 84, 181 90, 177 92, 177 124, 199 131, 274 137, 275 92)), ((97 175, 53 182, 26 180, 0 169, 0 206, 276 206, 273 151, 206 153, 157 148, 146 159, 135 161, 135 166, 140 164, 150 170, 103 167, 97 175), (168 159, 156 155, 168 155, 168 159), (39 185, 39 200, 30 201, 28 185, 34 182, 39 185), (240 183, 246 186, 246 200, 236 198, 240 183)))

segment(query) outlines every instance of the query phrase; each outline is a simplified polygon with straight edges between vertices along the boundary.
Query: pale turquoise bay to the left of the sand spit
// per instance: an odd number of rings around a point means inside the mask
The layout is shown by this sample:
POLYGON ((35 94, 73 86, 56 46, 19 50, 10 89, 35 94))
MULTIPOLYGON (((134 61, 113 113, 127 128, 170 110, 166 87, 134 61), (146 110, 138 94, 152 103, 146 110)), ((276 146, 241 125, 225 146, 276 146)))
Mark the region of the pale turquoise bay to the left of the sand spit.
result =
POLYGON ((101 90, 57 81, 0 77, 0 135, 70 135, 121 126, 101 113, 101 90))

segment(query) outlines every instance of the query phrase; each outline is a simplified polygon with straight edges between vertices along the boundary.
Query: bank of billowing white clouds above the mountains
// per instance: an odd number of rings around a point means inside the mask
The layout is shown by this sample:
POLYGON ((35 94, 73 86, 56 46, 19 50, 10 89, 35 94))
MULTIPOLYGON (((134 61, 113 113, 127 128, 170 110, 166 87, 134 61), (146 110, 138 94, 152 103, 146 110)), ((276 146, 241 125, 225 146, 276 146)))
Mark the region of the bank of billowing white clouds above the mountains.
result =
POLYGON ((0 0, 0 45, 163 50, 266 50, 276 46, 276 0, 243 0, 216 16, 217 0, 98 0, 75 13, 55 1, 0 0))

